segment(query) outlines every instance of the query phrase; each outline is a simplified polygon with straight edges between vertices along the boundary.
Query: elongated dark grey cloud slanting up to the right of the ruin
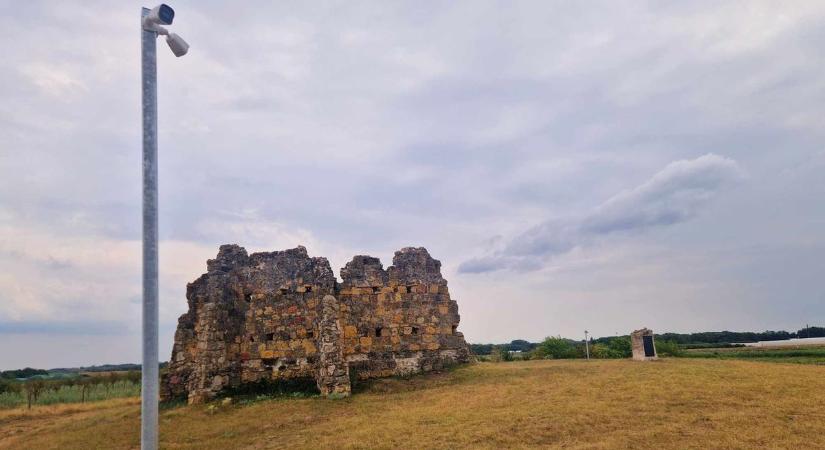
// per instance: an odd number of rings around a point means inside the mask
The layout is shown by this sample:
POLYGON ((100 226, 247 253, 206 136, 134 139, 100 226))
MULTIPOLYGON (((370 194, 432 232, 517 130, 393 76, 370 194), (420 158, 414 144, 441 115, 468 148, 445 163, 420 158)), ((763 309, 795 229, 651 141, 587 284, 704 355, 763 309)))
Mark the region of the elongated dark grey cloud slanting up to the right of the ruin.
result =
POLYGON ((611 197, 589 214, 539 224, 502 250, 462 263, 459 272, 535 270, 546 258, 586 245, 600 235, 641 232, 688 221, 743 176, 735 161, 714 154, 672 162, 650 180, 611 197))

